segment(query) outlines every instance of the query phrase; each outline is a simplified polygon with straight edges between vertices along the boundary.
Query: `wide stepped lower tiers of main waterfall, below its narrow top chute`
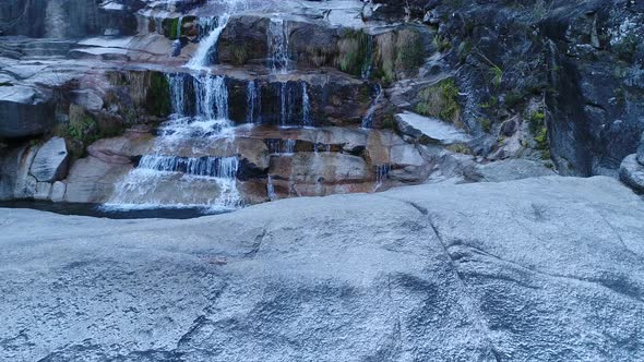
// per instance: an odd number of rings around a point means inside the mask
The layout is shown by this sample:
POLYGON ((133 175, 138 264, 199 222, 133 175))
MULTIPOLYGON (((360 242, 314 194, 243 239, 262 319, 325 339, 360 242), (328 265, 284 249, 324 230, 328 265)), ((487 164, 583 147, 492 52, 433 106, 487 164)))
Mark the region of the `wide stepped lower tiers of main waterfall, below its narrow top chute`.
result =
POLYGON ((213 210, 238 207, 241 204, 237 190, 238 158, 208 155, 213 150, 236 154, 228 149, 234 137, 225 77, 211 74, 168 74, 167 77, 174 114, 158 128, 153 152, 143 155, 136 167, 117 183, 104 207, 213 210), (187 116, 186 110, 186 86, 190 84, 194 89, 194 117, 187 116))

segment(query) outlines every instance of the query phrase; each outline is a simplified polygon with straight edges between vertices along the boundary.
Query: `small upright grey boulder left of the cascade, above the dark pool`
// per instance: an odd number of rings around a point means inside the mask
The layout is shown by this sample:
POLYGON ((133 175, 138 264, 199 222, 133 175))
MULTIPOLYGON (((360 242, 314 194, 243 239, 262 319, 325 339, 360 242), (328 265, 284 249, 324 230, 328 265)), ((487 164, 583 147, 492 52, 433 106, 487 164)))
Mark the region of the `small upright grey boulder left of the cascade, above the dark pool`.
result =
POLYGON ((69 154, 61 137, 47 141, 36 154, 29 172, 39 182, 53 182, 67 176, 69 154))

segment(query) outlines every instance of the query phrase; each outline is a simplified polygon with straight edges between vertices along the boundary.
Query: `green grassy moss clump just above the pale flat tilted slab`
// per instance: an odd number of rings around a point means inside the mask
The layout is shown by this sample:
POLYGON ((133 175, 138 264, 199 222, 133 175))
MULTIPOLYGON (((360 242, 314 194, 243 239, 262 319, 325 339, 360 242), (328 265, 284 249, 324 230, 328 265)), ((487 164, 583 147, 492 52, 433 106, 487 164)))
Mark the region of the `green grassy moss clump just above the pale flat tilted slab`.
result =
POLYGON ((444 80, 425 88, 420 90, 418 97, 420 101, 416 106, 416 112, 460 125, 461 105, 457 101, 458 88, 454 80, 444 80))

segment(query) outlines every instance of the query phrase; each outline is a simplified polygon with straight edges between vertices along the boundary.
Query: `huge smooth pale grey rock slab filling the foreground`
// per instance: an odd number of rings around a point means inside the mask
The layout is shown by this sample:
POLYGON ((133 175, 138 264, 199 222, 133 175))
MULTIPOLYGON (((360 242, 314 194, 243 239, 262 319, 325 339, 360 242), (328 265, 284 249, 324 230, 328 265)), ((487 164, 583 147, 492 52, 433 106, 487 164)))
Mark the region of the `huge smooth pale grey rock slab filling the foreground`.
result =
POLYGON ((643 219, 604 177, 182 221, 0 209, 0 360, 639 361, 643 219))

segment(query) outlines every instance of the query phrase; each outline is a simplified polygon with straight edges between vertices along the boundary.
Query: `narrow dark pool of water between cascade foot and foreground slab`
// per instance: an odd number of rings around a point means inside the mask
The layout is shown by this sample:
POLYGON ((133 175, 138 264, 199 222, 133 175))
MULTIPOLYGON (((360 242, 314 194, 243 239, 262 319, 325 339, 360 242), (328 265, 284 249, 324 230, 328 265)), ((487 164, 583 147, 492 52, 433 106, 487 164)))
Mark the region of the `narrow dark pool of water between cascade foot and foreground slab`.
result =
POLYGON ((60 215, 79 215, 105 217, 110 219, 191 219, 207 215, 224 214, 204 208, 146 208, 146 209, 104 209, 99 204, 51 203, 45 201, 7 201, 0 202, 0 207, 31 208, 60 215))

